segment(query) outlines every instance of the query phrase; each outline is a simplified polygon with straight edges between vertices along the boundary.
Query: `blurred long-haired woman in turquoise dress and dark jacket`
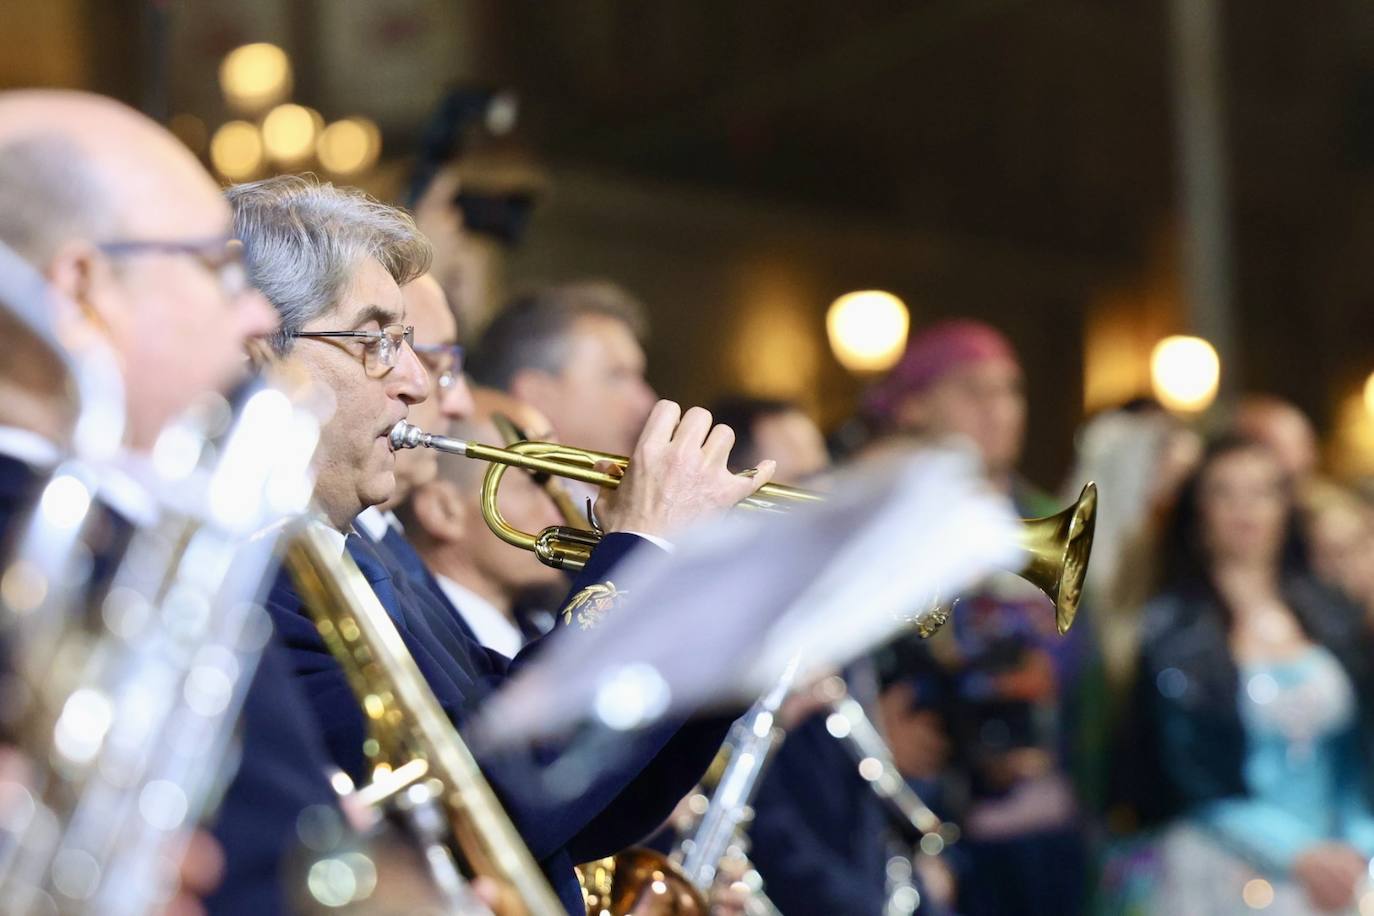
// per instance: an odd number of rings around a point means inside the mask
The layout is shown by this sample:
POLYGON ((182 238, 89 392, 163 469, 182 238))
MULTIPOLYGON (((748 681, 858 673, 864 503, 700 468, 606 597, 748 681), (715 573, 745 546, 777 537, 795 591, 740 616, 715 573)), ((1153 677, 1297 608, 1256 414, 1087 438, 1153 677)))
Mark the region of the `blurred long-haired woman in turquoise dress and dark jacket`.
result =
POLYGON ((1165 818, 1156 912, 1347 912, 1374 856, 1370 652, 1308 574, 1271 448, 1213 442, 1145 611, 1135 751, 1165 818))

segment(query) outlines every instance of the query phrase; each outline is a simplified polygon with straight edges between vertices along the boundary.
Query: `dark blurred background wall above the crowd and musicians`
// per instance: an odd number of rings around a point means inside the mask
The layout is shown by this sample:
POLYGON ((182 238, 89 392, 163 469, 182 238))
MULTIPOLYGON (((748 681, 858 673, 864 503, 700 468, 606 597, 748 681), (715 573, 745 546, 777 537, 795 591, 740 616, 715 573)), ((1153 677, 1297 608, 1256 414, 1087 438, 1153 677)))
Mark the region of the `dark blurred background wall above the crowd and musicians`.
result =
MULTIPOLYGON (((1374 7, 1217 8, 1224 371, 1371 470, 1349 411, 1374 369, 1374 7)), ((824 309, 888 288, 918 328, 971 314, 1011 335, 1026 467, 1054 483, 1084 411, 1139 393, 1153 341, 1189 330, 1164 0, 10 0, 0 85, 213 125, 218 59, 253 40, 291 54, 298 102, 382 124, 379 194, 445 88, 518 89, 550 194, 507 282, 624 282, 665 394, 796 394, 835 423, 863 380, 824 309)))

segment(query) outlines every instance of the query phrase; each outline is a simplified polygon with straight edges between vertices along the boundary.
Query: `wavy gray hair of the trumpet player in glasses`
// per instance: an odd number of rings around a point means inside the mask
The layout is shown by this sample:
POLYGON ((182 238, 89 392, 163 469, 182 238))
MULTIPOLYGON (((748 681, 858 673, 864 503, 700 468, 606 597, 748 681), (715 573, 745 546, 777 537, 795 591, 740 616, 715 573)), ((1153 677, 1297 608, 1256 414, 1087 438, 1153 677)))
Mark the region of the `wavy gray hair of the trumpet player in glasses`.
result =
POLYGON ((279 354, 291 349, 293 334, 338 305, 367 258, 376 258, 397 286, 429 271, 430 243, 409 214, 357 188, 286 174, 225 195, 249 277, 282 316, 271 339, 279 354))

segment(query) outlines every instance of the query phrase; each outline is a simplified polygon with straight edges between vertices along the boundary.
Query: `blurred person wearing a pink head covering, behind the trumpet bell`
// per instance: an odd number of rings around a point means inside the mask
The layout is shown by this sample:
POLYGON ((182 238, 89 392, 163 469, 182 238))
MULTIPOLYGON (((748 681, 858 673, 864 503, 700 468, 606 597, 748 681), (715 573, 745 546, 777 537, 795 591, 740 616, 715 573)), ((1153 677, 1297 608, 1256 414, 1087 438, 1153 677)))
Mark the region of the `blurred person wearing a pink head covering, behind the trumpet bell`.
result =
MULTIPOLYGON (((989 483, 1025 516, 1058 509, 1018 474, 1026 398, 1011 343, 971 320, 912 336, 867 409, 888 439, 958 441, 982 459, 989 483)), ((1017 916, 1081 912, 1087 876, 1083 799, 1094 797, 1102 739, 1102 691, 1091 611, 1066 637, 1047 600, 1014 577, 960 597, 932 652, 951 685, 945 718, 962 812, 967 872, 959 912, 1017 916)), ((929 658, 922 648, 922 656, 929 658)), ((897 656, 901 652, 896 652, 897 656)), ((930 692, 914 676, 908 705, 930 692)))

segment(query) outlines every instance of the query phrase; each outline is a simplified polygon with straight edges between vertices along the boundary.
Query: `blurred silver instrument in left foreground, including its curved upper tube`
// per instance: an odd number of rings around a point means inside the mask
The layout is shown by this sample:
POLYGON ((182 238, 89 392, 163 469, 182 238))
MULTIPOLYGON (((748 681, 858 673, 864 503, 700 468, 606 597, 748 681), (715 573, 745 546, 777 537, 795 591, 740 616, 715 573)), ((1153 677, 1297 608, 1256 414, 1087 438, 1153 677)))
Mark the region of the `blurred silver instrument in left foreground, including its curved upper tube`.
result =
POLYGON ((129 478, 114 467, 122 389, 107 354, 69 350, 52 295, 0 251, 7 310, 66 369, 70 457, 0 560, 7 740, 32 772, 3 786, 7 913, 142 916, 165 904, 212 805, 271 629, 260 606, 279 526, 312 492, 317 413, 256 385, 169 426, 140 493, 153 515, 122 553, 99 538, 129 478), (23 294, 23 291, 27 294, 23 294), (14 294, 18 293, 18 294, 14 294), (118 558, 106 581, 93 560, 118 558))

